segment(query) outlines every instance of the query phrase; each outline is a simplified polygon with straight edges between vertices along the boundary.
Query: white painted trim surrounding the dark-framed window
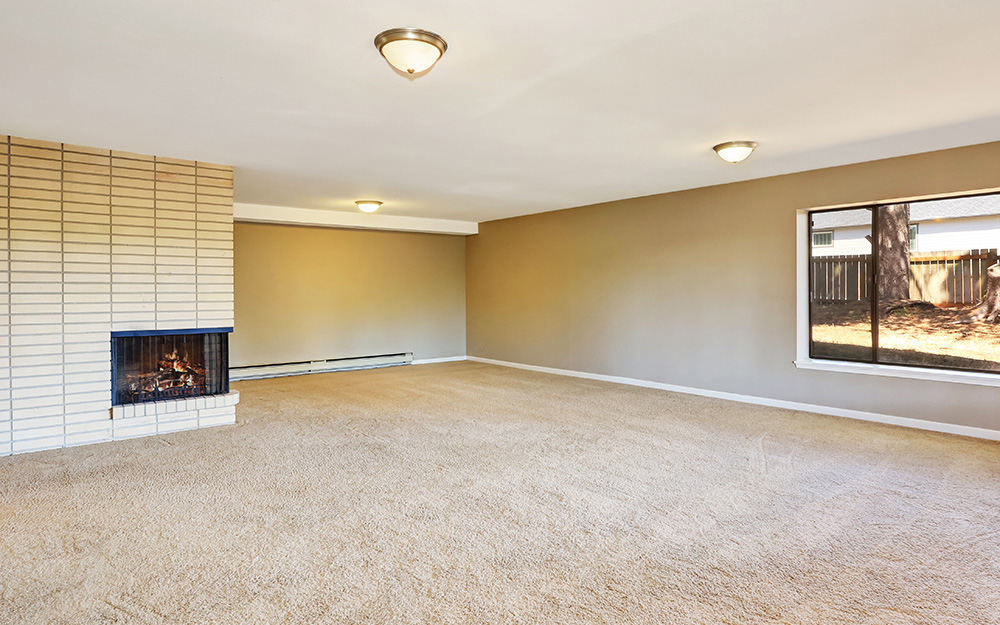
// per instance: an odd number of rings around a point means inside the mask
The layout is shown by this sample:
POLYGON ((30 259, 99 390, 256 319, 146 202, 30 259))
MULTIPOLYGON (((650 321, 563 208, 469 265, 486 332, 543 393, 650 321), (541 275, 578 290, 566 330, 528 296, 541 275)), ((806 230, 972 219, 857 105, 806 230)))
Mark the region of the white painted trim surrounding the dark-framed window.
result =
POLYGON ((934 382, 953 382, 956 384, 975 384, 979 386, 1000 387, 1000 373, 929 369, 924 367, 900 367, 895 365, 874 364, 870 362, 824 360, 821 358, 809 357, 810 212, 831 208, 857 208, 861 206, 873 206, 876 204, 902 204, 905 202, 916 202, 919 200, 940 200, 952 197, 997 192, 1000 192, 1000 187, 909 198, 887 198, 872 200, 869 202, 857 202, 854 204, 812 206, 809 208, 798 209, 795 214, 795 366, 799 369, 809 369, 814 371, 858 373, 862 375, 881 375, 891 378, 908 378, 911 380, 931 380, 934 382))

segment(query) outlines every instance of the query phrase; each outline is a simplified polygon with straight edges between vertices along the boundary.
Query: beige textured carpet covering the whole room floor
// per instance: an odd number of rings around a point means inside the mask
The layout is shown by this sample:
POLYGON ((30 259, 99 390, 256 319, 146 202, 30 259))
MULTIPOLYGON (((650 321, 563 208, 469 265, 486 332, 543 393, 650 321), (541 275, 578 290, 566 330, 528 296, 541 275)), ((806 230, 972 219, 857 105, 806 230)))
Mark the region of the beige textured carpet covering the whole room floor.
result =
POLYGON ((1000 622, 1000 445, 473 363, 0 459, 2 623, 1000 622))

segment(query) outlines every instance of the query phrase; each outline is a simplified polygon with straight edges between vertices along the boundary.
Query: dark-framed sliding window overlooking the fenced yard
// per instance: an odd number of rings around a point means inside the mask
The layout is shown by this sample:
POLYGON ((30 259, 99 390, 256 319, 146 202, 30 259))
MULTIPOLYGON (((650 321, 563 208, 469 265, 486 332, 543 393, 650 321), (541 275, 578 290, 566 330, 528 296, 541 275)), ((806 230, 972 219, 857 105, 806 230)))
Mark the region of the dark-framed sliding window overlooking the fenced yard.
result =
POLYGON ((1000 373, 1000 195, 811 211, 806 240, 810 358, 1000 373))

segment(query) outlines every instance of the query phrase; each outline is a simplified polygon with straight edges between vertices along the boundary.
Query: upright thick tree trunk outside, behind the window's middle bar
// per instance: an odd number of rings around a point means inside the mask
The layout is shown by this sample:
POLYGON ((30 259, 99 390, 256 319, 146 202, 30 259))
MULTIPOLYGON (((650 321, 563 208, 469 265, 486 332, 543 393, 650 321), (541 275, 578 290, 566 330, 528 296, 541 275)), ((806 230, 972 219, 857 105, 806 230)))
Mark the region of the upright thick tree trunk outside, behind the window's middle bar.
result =
POLYGON ((910 205, 878 207, 878 277, 880 306, 910 299, 910 205))

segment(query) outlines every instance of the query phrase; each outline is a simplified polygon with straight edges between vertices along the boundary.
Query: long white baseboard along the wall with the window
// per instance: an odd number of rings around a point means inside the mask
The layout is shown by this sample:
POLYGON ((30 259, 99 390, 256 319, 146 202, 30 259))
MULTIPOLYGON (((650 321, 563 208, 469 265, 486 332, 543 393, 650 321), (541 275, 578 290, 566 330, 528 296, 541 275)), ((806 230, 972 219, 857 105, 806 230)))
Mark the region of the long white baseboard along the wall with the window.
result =
POLYGON ((899 425, 902 427, 913 428, 917 430, 929 430, 931 432, 943 432, 945 434, 957 434, 959 436, 969 436, 971 438, 982 438, 991 441, 1000 441, 1000 430, 989 430, 986 428, 976 428, 967 425, 940 423, 938 421, 923 421, 921 419, 911 419, 909 417, 896 417, 892 415, 879 414, 876 412, 848 410, 846 408, 834 408, 831 406, 820 406, 817 404, 803 404, 800 402, 785 401, 782 399, 770 399, 767 397, 756 397, 753 395, 740 395, 737 393, 712 391, 708 389, 693 388, 689 386, 663 384, 661 382, 650 382, 648 380, 624 378, 616 375, 602 375, 599 373, 586 373, 583 371, 571 371, 568 369, 539 367, 536 365, 525 365, 516 362, 507 362, 504 360, 493 360, 492 358, 480 358, 479 356, 468 356, 467 360, 470 360, 472 362, 482 362, 489 365, 499 365, 501 367, 513 367, 515 369, 537 371, 539 373, 552 373, 554 375, 565 375, 573 378, 600 380, 602 382, 615 382, 617 384, 628 384, 630 386, 655 388, 662 391, 685 393, 687 395, 700 395, 702 397, 712 397, 714 399, 726 399, 729 401, 736 401, 743 404, 757 404, 759 406, 771 406, 773 408, 786 408, 788 410, 814 412, 817 414, 831 415, 834 417, 846 417, 848 419, 858 419, 860 421, 872 421, 875 423, 885 423, 888 425, 899 425))

